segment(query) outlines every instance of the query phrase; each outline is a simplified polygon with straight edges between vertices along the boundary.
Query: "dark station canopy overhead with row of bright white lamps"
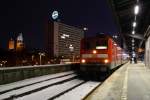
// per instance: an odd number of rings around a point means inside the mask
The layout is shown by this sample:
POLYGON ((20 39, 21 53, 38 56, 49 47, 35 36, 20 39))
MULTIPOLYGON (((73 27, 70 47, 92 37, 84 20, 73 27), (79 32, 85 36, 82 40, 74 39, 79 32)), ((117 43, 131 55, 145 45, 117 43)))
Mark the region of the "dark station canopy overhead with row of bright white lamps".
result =
POLYGON ((127 50, 144 48, 147 38, 144 34, 150 25, 150 0, 108 0, 108 2, 127 50))

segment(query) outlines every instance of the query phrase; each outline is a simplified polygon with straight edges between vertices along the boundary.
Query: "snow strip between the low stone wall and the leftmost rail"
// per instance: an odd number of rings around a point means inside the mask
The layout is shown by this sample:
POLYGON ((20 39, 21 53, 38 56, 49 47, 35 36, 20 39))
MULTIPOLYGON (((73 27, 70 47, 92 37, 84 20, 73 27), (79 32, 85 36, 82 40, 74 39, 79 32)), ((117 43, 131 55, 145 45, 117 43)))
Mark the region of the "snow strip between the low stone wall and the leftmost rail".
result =
POLYGON ((44 81, 47 79, 52 79, 52 78, 56 78, 56 77, 60 77, 60 76, 68 75, 68 74, 73 74, 73 73, 74 73, 73 71, 68 71, 68 72, 62 72, 62 73, 57 73, 57 74, 44 75, 44 76, 39 76, 35 78, 25 79, 22 81, 13 82, 13 83, 5 84, 5 85, 0 85, 0 92, 10 90, 13 88, 17 88, 17 87, 22 87, 22 86, 33 84, 33 83, 37 83, 37 82, 44 81))

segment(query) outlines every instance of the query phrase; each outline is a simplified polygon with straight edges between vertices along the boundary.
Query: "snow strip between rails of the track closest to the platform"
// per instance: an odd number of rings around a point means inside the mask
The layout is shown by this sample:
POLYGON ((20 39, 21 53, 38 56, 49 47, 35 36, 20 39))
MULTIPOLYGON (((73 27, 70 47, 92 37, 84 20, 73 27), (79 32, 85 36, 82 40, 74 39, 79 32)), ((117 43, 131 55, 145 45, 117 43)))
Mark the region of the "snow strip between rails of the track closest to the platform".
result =
POLYGON ((55 100, 82 100, 88 93, 90 93, 100 82, 86 82, 79 87, 65 93, 55 100))

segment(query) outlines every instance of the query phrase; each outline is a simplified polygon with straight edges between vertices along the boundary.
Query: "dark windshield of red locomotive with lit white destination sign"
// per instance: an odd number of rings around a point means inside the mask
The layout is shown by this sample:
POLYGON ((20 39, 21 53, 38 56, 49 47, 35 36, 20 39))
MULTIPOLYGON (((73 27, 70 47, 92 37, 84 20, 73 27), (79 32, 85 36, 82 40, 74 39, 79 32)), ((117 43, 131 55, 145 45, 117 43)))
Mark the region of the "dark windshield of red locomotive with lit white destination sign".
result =
POLYGON ((107 49, 108 42, 106 39, 88 39, 84 41, 83 49, 107 49))

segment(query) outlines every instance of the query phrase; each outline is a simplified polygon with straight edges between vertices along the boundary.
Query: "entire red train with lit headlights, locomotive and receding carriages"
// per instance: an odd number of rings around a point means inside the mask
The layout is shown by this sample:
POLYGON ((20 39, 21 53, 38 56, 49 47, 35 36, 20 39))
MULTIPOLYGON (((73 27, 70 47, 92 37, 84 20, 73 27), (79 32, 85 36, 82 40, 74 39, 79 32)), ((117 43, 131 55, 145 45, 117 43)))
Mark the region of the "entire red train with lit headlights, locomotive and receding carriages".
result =
POLYGON ((107 34, 98 34, 81 40, 81 72, 106 72, 129 60, 129 55, 107 34))

